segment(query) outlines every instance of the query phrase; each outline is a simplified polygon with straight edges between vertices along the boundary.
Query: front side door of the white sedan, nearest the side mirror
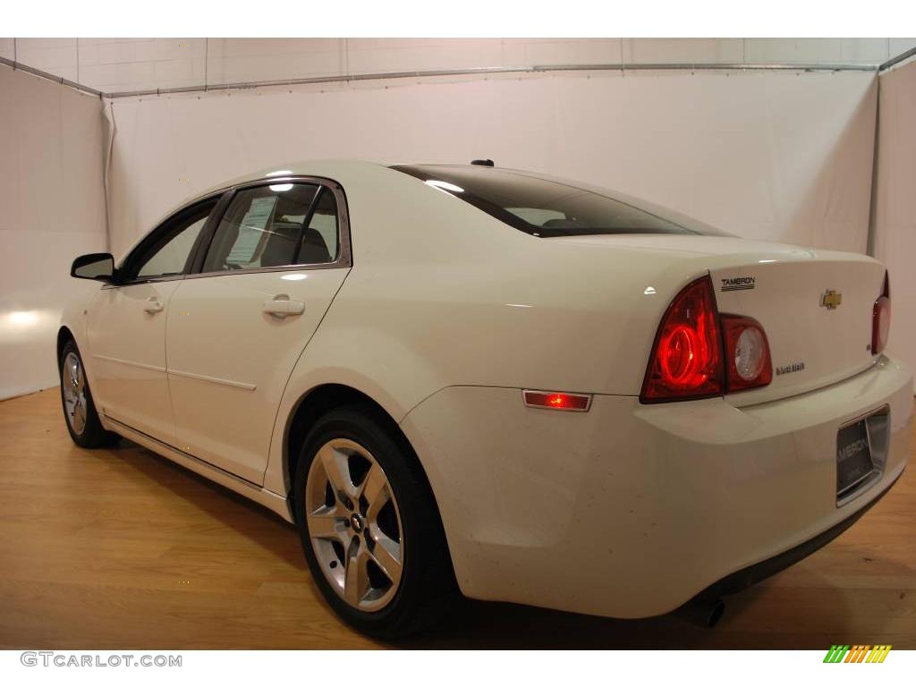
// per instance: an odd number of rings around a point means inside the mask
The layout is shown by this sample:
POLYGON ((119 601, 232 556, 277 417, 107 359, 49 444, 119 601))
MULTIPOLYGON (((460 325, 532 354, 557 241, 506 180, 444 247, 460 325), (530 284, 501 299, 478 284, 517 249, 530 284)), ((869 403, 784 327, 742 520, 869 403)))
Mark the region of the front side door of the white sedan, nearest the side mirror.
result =
POLYGON ((93 396, 99 411, 159 441, 175 441, 166 375, 169 301, 191 267, 216 198, 160 224, 125 258, 117 283, 104 286, 87 312, 93 396))

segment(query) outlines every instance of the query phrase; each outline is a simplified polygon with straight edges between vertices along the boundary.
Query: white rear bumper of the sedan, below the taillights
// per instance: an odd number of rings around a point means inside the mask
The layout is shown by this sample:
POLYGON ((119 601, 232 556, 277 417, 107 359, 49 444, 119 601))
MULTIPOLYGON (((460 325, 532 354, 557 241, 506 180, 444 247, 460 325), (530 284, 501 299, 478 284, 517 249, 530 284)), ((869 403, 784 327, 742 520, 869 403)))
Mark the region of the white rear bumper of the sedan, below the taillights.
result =
POLYGON ((640 617, 738 572, 756 577, 758 563, 790 560, 854 518, 903 470, 912 393, 910 371, 883 358, 831 387, 741 409, 596 396, 588 412, 563 413, 525 408, 518 389, 449 387, 402 427, 464 594, 640 617), (883 471, 837 507, 836 431, 884 406, 883 471))

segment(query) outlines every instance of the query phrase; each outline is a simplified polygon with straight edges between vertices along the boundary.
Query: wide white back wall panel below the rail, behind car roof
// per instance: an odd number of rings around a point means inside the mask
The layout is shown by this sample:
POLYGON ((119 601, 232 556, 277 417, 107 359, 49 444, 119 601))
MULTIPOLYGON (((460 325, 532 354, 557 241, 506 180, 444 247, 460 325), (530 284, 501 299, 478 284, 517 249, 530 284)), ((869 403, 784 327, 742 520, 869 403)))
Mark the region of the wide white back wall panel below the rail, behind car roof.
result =
POLYGON ((120 254, 169 208, 306 158, 494 158, 747 237, 864 252, 870 72, 639 72, 359 82, 114 100, 120 254))

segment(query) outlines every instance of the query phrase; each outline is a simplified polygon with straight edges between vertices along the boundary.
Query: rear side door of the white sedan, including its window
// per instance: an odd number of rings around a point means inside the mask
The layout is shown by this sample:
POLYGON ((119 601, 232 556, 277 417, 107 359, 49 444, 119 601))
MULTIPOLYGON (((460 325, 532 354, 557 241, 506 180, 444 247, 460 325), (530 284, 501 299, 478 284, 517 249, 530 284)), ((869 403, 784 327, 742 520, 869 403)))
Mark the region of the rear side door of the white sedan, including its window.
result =
POLYGON ((326 180, 234 191, 169 308, 180 449, 261 484, 283 389, 350 268, 344 193, 326 180))

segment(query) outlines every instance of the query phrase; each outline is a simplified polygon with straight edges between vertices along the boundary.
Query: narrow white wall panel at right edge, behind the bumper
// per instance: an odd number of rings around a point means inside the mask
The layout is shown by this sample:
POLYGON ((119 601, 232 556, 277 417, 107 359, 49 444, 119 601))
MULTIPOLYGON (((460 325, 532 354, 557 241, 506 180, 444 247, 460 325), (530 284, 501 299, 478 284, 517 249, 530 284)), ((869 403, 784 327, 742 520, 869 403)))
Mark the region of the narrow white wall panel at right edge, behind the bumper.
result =
POLYGON ((888 265, 889 351, 916 369, 916 61, 880 77, 875 255, 888 265))

